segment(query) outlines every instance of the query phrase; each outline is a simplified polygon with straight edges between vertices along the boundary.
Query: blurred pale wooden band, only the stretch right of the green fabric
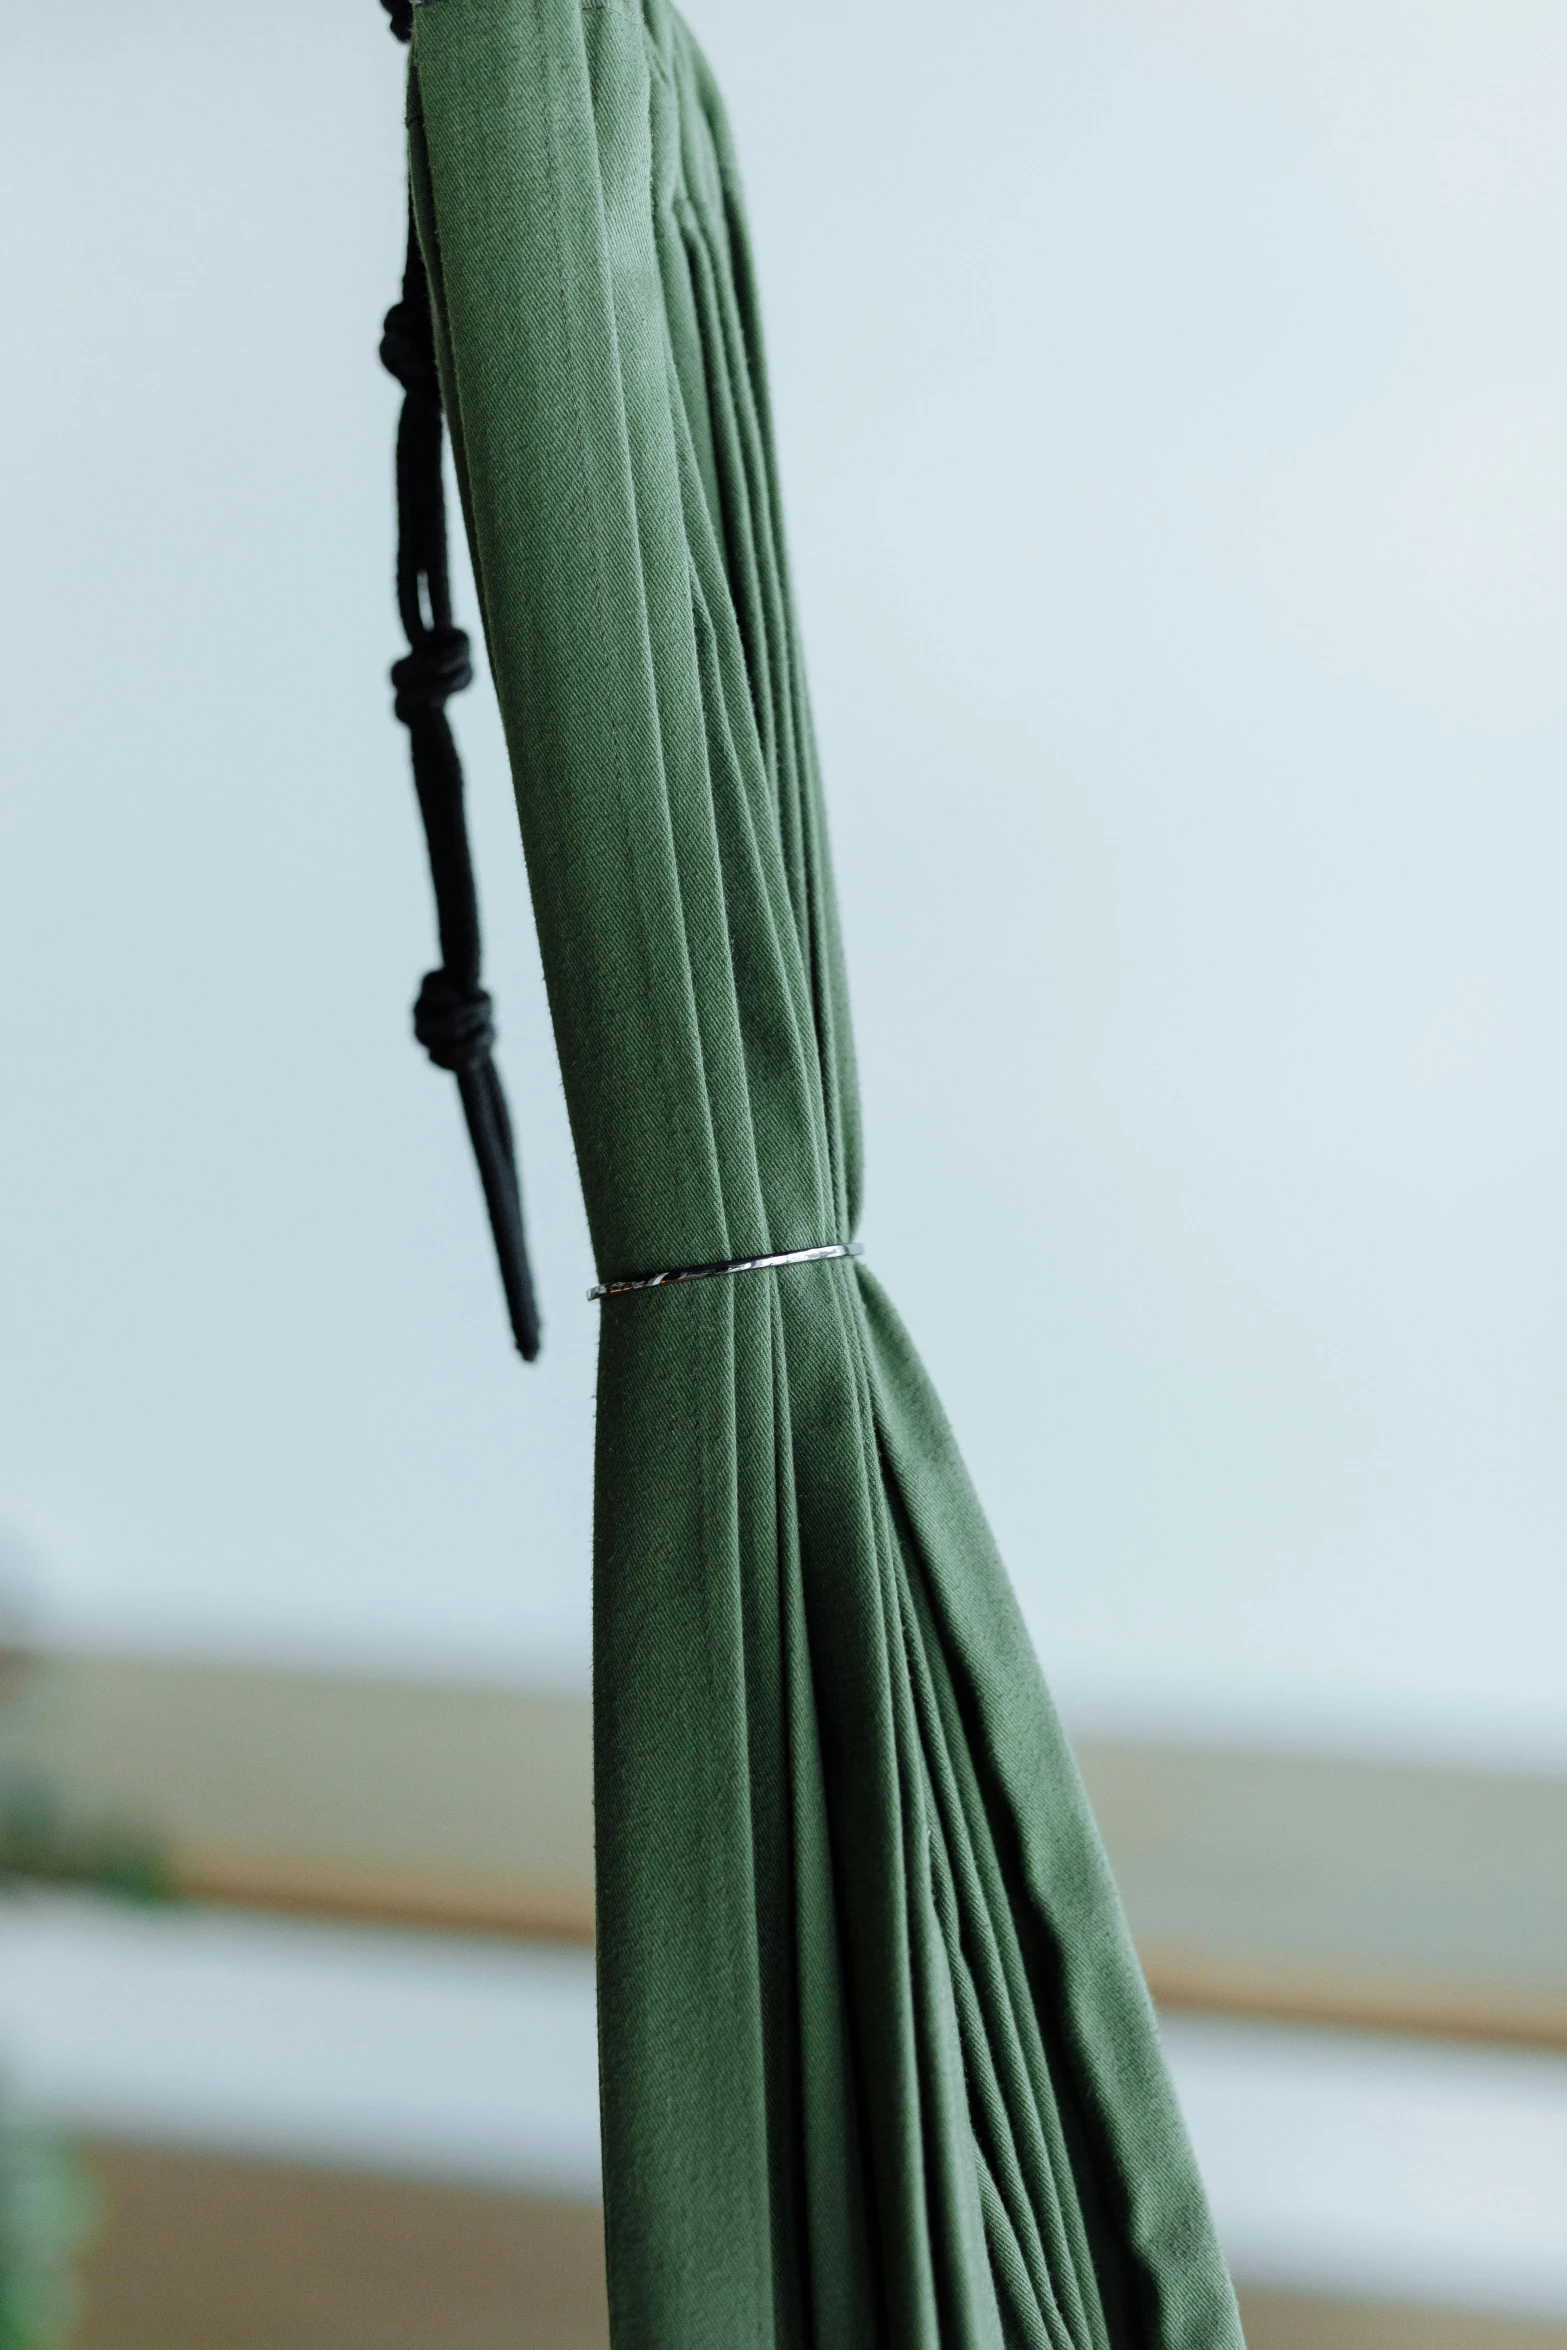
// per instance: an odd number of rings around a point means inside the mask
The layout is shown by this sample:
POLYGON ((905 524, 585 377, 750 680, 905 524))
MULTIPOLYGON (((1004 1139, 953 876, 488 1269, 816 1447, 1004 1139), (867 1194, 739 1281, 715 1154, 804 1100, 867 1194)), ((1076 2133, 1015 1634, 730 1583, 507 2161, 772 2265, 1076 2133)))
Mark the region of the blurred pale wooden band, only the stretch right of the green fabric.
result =
POLYGON ((1081 1739, 1161 2007, 1567 2047, 1567 1777, 1081 1739))

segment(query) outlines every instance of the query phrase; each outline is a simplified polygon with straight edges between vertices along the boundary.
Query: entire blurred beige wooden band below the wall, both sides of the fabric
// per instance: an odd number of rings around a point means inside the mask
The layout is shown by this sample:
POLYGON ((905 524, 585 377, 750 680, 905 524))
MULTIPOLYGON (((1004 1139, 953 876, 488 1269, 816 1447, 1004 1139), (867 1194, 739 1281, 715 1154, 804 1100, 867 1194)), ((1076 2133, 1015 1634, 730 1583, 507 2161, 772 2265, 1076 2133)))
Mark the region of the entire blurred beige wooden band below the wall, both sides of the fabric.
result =
MULTIPOLYGON (((1165 2007, 1567 2047, 1567 1777, 1081 1739, 1165 2007)), ((49 1657, 0 1774, 200 1899, 592 1939, 587 1699, 49 1657)))

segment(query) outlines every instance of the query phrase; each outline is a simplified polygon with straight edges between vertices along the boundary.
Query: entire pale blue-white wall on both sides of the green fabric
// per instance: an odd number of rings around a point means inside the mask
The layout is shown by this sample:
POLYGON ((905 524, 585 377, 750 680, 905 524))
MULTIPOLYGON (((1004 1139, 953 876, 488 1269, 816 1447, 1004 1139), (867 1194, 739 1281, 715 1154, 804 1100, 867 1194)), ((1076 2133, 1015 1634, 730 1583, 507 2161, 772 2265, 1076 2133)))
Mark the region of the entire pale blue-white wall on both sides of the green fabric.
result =
MULTIPOLYGON (((867 1241, 1067 1708, 1567 1760, 1567 28, 693 16, 867 1241)), ((5 45, 12 1553, 80 1640, 578 1676, 590 1271, 482 693, 536 1370, 406 1039, 397 52, 374 0, 5 45)))

